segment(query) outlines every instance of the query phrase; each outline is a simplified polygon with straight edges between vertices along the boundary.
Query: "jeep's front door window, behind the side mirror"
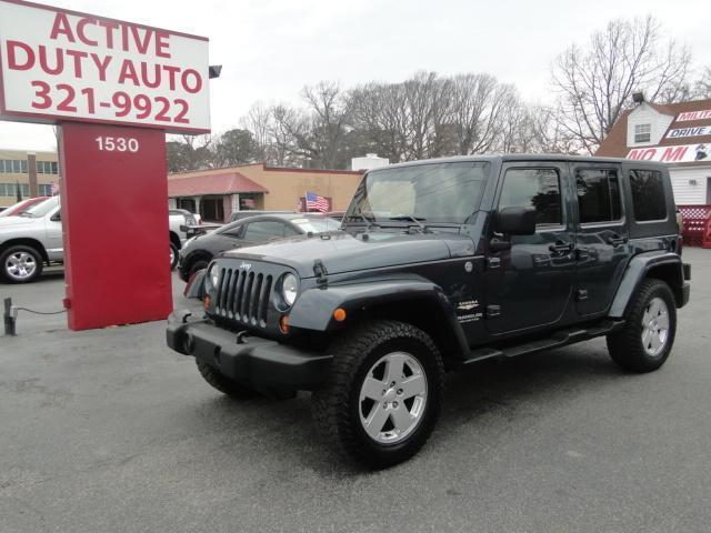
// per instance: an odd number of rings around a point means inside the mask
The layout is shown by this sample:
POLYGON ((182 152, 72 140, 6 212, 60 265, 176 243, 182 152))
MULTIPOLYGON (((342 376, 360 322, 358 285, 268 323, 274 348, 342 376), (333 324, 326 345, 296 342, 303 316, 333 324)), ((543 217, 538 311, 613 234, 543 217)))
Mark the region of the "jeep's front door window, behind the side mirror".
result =
POLYGON ((560 180, 555 169, 509 169, 499 209, 535 208, 537 224, 562 223, 560 180))

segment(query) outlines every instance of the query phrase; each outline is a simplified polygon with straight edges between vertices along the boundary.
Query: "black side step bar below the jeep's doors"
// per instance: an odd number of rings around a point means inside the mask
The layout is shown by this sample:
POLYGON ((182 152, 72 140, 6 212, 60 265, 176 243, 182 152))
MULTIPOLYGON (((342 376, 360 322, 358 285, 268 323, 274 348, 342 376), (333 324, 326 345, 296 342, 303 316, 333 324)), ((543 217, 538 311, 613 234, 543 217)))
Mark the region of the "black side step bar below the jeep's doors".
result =
POLYGON ((479 348, 469 352, 469 356, 462 361, 462 364, 471 364, 483 361, 484 359, 515 358, 518 355, 551 350, 553 348, 560 348, 580 341, 588 341, 597 336, 612 333, 623 324, 623 320, 605 320, 603 322, 592 324, 587 329, 561 330, 557 331, 551 336, 528 341, 522 344, 513 344, 501 349, 479 348))

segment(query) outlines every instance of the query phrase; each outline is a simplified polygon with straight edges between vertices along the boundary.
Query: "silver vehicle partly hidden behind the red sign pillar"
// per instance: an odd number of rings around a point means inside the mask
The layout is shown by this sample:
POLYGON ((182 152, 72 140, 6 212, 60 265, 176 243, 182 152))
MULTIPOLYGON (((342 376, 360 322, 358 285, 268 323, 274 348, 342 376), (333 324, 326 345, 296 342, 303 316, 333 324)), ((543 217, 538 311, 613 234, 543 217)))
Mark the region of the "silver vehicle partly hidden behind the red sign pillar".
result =
MULTIPOLYGON (((59 197, 46 199, 16 217, 0 218, 0 276, 10 283, 36 281, 44 265, 62 263, 64 244, 59 197)), ((169 217, 171 269, 187 240, 183 213, 169 217)))

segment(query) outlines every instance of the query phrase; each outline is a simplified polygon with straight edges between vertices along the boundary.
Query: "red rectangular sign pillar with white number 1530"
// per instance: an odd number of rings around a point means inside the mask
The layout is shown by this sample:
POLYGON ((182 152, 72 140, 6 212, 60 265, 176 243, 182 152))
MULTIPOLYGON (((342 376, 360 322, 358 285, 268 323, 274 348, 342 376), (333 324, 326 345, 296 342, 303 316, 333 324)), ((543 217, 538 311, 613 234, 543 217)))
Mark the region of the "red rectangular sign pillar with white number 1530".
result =
POLYGON ((69 328, 163 320, 172 310, 166 134, 61 124, 69 328))

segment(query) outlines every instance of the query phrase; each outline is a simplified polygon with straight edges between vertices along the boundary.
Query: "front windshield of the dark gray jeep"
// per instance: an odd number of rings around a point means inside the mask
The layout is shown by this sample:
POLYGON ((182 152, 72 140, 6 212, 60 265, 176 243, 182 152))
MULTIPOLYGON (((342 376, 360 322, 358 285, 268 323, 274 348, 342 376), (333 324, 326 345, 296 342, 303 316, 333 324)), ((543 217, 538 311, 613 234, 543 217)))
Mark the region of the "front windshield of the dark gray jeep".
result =
POLYGON ((469 223, 490 168, 488 161, 462 161, 371 171, 356 191, 347 220, 469 223))

